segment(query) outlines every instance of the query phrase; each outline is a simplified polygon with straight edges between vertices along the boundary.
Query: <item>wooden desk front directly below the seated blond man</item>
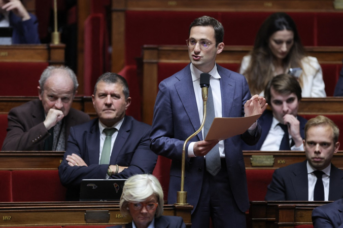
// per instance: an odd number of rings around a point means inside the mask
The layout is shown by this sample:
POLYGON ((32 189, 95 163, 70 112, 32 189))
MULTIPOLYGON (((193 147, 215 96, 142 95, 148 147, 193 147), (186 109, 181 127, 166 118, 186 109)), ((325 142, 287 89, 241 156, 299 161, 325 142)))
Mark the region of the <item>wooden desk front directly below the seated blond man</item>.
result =
POLYGON ((251 201, 249 222, 252 228, 312 224, 312 210, 328 203, 331 201, 251 201))

